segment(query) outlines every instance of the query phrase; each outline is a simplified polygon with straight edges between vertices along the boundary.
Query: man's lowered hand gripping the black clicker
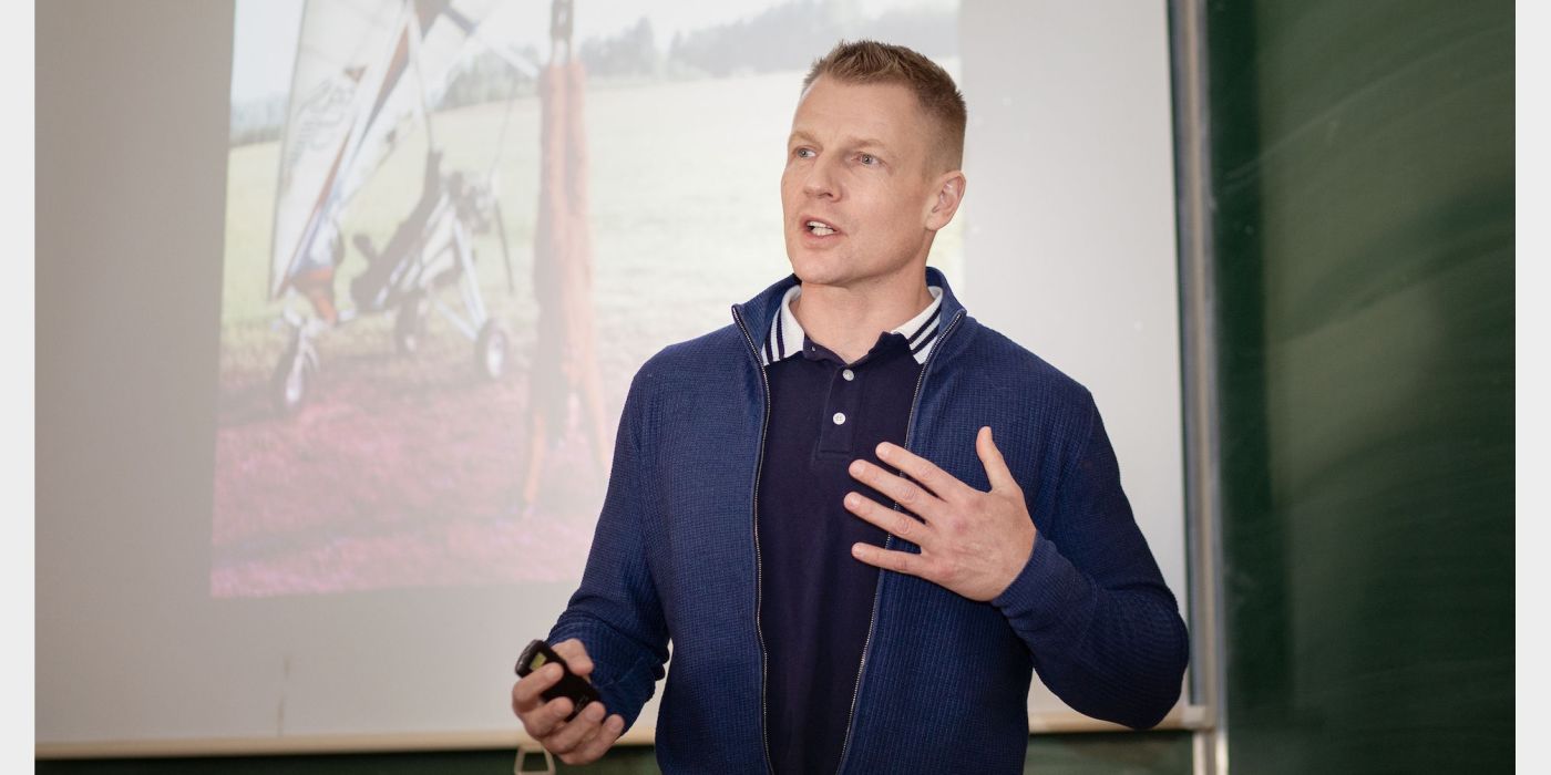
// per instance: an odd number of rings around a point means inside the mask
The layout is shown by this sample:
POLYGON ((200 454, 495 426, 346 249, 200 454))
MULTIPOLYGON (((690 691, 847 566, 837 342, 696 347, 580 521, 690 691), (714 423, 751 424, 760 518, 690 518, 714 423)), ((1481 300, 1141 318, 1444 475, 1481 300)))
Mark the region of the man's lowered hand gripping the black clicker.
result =
MULTIPOLYGON (((586 648, 577 639, 561 640, 552 646, 560 659, 566 660, 571 673, 588 679, 592 674, 592 659, 586 656, 586 648)), ((597 761, 610 746, 625 732, 625 719, 617 713, 608 715, 602 702, 592 702, 582 708, 577 718, 566 721, 571 715, 572 702, 566 698, 544 702, 543 691, 560 682, 558 663, 544 665, 512 685, 512 711, 523 721, 523 728, 534 736, 546 750, 560 756, 566 764, 589 764, 597 761)))

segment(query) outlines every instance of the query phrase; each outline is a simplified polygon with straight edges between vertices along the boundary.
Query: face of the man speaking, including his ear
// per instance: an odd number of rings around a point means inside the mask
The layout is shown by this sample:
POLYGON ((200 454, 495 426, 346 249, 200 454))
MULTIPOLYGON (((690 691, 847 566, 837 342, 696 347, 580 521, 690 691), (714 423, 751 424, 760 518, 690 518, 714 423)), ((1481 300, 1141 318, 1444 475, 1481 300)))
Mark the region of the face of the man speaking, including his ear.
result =
POLYGON ((932 119, 903 85, 813 82, 793 116, 780 180, 786 257, 799 279, 861 288, 924 260, 957 209, 954 197, 943 217, 938 192, 955 175, 935 169, 934 138, 932 119))

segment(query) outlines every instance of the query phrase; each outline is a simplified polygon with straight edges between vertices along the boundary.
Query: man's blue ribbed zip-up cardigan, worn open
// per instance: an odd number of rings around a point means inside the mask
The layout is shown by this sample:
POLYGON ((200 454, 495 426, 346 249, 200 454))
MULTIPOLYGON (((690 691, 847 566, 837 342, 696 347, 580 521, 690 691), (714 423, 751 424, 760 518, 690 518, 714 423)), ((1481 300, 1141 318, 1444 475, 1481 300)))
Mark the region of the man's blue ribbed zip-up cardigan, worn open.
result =
MULTIPOLYGON (((976 603, 883 572, 842 772, 1021 772, 1030 670, 1089 716, 1151 727, 1188 660, 1174 595, 1131 515, 1081 384, 965 313, 946 279, 907 446, 988 490, 990 425, 1038 529, 1022 574, 976 603)), ((667 772, 766 772, 755 502, 769 391, 758 358, 786 277, 734 324, 675 344, 631 381, 582 587, 549 634, 580 639, 611 713, 658 716, 667 772)), ((918 550, 889 539, 890 547, 918 550)))

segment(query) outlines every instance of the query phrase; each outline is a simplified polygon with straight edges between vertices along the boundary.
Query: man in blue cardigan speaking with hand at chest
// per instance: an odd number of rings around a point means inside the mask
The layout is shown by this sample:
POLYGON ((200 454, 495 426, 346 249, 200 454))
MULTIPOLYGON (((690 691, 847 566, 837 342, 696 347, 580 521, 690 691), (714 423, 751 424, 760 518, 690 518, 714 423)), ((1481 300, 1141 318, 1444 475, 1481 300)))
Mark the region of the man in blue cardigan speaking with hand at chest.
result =
POLYGON ((814 64, 782 175, 794 274, 642 366, 582 587, 549 636, 603 698, 512 688, 563 761, 667 677, 686 772, 1008 772, 1030 671, 1151 727, 1185 626, 1089 392, 926 267, 965 194, 965 107, 926 57, 814 64), (994 436, 993 436, 994 429, 994 436), (613 713, 613 715, 610 715, 613 713))

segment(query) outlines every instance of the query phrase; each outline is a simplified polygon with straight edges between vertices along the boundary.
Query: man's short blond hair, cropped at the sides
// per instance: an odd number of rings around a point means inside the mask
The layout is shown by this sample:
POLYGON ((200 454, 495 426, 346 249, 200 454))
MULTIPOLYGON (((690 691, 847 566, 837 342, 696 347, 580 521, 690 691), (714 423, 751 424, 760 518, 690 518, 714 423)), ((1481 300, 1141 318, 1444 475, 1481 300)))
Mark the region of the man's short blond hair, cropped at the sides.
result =
POLYGON ((932 157, 943 164, 943 170, 959 169, 963 164, 965 124, 969 113, 963 93, 937 62, 900 45, 841 40, 828 54, 813 62, 808 78, 802 79, 803 95, 819 76, 830 76, 845 84, 900 84, 909 88, 921 110, 937 124, 932 157))

